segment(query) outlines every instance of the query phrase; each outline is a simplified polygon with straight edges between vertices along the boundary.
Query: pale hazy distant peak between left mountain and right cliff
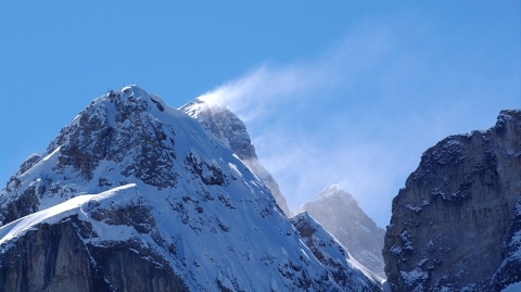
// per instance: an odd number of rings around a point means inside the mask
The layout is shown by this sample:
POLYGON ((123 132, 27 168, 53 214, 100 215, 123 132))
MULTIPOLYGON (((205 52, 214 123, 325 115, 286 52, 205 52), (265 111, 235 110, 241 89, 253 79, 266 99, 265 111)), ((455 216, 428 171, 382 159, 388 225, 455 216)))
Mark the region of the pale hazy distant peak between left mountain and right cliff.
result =
POLYGON ((333 185, 296 212, 301 211, 307 211, 356 261, 385 278, 382 257, 385 231, 364 213, 353 195, 333 185))

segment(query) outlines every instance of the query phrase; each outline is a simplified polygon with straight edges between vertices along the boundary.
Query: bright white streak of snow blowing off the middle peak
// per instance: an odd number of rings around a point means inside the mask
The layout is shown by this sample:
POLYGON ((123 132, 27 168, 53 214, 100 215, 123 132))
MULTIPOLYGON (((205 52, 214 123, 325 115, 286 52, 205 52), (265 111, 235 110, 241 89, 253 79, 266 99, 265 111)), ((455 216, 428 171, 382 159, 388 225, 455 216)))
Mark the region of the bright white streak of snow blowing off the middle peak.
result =
POLYGON ((265 63, 199 98, 228 106, 244 122, 265 118, 276 106, 319 102, 323 99, 320 92, 356 84, 387 55, 390 43, 382 26, 370 33, 355 31, 314 60, 285 65, 265 63))

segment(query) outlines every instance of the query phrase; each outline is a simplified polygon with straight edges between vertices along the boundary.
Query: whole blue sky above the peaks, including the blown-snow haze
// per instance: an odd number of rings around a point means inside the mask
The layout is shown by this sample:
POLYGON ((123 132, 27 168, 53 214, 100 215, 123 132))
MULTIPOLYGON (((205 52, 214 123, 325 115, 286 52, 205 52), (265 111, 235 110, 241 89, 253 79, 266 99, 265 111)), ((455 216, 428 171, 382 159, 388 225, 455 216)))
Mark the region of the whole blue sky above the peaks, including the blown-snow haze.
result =
POLYGON ((519 1, 2 1, 0 179, 138 84, 245 119, 290 208, 331 183, 380 226, 421 153, 521 107, 519 1))

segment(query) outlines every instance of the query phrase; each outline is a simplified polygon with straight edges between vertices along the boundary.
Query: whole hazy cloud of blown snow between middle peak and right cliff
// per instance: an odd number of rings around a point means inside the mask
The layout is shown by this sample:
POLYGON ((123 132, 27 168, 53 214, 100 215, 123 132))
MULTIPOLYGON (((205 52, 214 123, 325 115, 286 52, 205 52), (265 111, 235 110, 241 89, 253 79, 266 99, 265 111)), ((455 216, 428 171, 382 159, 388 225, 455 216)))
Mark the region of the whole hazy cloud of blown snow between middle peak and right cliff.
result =
POLYGON ((200 98, 245 122, 290 208, 340 183, 384 226, 423 151, 519 103, 516 78, 484 72, 474 51, 440 53, 441 37, 414 18, 366 21, 313 60, 263 64, 200 98))

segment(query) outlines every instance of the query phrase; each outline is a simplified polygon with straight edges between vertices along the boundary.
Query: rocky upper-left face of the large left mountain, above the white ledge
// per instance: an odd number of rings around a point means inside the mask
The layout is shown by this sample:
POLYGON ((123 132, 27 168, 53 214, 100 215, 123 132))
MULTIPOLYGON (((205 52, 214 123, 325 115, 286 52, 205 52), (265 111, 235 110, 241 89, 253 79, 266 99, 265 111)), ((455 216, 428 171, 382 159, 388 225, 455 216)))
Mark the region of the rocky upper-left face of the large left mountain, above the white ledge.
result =
POLYGON ((38 211, 46 198, 63 201, 80 192, 87 183, 64 183, 76 176, 98 181, 97 191, 125 185, 129 177, 160 189, 174 187, 175 131, 152 114, 164 111, 160 102, 139 87, 110 91, 93 101, 62 128, 47 153, 31 155, 11 177, 0 196, 1 224, 38 211), (43 167, 28 179, 28 170, 42 164, 52 164, 52 169, 43 167))

